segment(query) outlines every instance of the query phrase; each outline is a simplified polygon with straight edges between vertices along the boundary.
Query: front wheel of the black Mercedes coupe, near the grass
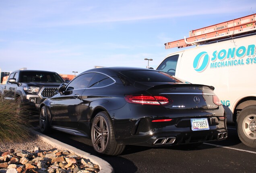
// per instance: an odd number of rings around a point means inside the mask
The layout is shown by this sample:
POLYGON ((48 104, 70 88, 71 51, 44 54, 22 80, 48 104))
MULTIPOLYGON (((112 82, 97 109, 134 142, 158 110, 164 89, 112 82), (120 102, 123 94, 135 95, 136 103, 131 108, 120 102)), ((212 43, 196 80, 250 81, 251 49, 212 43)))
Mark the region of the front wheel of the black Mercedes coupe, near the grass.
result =
POLYGON ((41 133, 47 134, 51 132, 49 117, 50 117, 49 111, 45 106, 43 106, 42 109, 40 110, 40 115, 39 115, 39 129, 41 133))

